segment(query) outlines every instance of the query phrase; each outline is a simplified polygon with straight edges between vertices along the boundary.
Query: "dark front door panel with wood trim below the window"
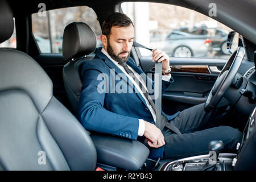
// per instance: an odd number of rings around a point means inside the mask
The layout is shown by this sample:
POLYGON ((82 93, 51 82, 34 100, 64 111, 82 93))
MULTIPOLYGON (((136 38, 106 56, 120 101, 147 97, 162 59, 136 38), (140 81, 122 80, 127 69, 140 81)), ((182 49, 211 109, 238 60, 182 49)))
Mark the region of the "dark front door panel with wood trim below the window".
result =
MULTIPOLYGON (((142 56, 139 60, 145 73, 154 73, 152 57, 142 56)), ((162 97, 162 107, 167 114, 174 114, 206 101, 207 96, 224 67, 226 60, 170 57, 171 75, 174 82, 162 97)), ((243 61, 240 70, 243 75, 253 66, 243 61)))

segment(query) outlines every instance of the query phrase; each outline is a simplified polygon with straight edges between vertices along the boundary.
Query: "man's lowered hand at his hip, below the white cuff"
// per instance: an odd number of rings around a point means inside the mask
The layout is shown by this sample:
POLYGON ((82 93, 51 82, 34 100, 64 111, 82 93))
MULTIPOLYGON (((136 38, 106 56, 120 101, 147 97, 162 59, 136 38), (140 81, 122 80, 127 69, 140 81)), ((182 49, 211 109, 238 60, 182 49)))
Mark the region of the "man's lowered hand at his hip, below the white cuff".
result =
POLYGON ((151 140, 152 142, 148 141, 147 144, 153 148, 162 147, 164 144, 164 136, 162 131, 160 131, 155 125, 151 124, 150 122, 144 121, 145 123, 145 131, 144 136, 151 140))

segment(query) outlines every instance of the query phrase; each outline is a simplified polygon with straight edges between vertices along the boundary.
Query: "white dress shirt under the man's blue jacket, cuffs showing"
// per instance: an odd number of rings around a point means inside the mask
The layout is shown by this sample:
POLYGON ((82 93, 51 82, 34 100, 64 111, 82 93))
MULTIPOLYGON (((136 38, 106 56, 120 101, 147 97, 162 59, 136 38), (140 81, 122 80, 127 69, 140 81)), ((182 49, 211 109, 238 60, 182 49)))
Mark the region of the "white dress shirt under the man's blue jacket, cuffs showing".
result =
MULTIPOLYGON (((103 52, 110 60, 113 61, 113 63, 119 68, 121 69, 121 71, 123 73, 125 73, 125 75, 130 79, 131 82, 133 82, 133 84, 136 86, 136 88, 139 90, 139 93, 142 95, 143 99, 146 101, 146 104, 147 104, 147 107, 148 109, 150 110, 150 113, 152 114, 152 117, 154 118, 154 121, 156 121, 156 115, 155 115, 155 111, 154 109, 152 108, 151 104, 148 102, 146 96, 144 96, 141 88, 139 88, 139 85, 134 81, 134 79, 125 71, 125 68, 123 68, 121 65, 118 64, 117 61, 113 60, 112 57, 108 54, 108 52, 105 51, 105 49, 102 47, 101 49, 101 52, 103 52)), ((134 73, 134 76, 136 76, 143 84, 144 88, 147 89, 147 86, 146 84, 144 83, 142 77, 134 71, 133 68, 131 68, 128 64, 127 64, 127 67, 134 73)), ((162 76, 162 80, 165 80, 165 81, 170 81, 170 78, 171 78, 171 74, 169 75, 163 75, 162 76)), ((147 90, 148 91, 148 90, 147 90)), ((145 131, 145 123, 143 121, 143 119, 138 119, 139 120, 139 130, 138 130, 138 136, 143 136, 144 134, 144 131, 145 131)))

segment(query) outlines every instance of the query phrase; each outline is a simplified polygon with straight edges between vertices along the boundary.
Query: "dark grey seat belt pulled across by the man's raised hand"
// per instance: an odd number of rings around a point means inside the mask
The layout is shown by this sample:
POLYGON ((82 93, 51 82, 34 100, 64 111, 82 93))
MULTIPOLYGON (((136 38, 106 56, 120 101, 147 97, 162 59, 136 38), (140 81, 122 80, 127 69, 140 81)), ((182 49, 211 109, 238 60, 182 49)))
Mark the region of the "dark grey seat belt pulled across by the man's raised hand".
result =
MULTIPOLYGON (((153 50, 137 42, 133 42, 133 46, 145 48, 150 51, 153 50)), ((162 115, 162 61, 160 63, 158 63, 158 61, 155 61, 155 76, 156 75, 158 76, 157 76, 157 80, 155 79, 155 84, 154 84, 155 114, 156 114, 155 125, 161 131, 163 130, 164 126, 166 126, 168 129, 174 131, 174 133, 176 133, 177 135, 181 135, 179 129, 177 129, 177 127, 175 127, 172 123, 168 122, 168 119, 166 118, 165 115, 162 115), (163 122, 163 119, 166 121, 163 122)), ((146 83, 146 80, 144 81, 146 83)))

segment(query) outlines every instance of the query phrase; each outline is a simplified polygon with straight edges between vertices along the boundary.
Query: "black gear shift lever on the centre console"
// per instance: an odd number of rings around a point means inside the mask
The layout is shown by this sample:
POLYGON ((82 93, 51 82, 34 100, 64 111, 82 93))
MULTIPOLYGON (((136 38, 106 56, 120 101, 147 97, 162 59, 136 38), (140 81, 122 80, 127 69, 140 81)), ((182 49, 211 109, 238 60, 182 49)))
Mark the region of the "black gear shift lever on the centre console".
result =
MULTIPOLYGON (((224 143, 221 140, 213 140, 208 144, 209 152, 212 152, 212 151, 216 152, 216 160, 218 160, 218 155, 223 150, 223 148, 224 148, 224 143)), ((212 160, 211 157, 209 158, 207 163, 204 164, 203 168, 201 169, 202 171, 209 170, 209 169, 210 170, 217 169, 216 164, 210 164, 209 162, 210 160, 212 160)))

